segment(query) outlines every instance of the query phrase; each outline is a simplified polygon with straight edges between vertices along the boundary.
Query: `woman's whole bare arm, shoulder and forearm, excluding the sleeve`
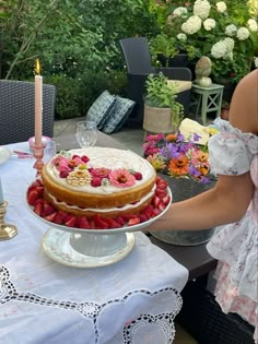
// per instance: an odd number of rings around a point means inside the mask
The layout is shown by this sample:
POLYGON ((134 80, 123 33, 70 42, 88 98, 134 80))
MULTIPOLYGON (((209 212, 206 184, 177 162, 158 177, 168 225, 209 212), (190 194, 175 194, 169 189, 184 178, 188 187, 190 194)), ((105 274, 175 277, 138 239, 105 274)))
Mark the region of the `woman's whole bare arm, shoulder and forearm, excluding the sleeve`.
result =
MULTIPOLYGON (((258 70, 237 85, 230 121, 243 132, 258 133, 258 70)), ((195 198, 173 203, 169 210, 146 229, 206 229, 239 221, 251 201, 255 186, 250 174, 219 176, 215 187, 195 198)))

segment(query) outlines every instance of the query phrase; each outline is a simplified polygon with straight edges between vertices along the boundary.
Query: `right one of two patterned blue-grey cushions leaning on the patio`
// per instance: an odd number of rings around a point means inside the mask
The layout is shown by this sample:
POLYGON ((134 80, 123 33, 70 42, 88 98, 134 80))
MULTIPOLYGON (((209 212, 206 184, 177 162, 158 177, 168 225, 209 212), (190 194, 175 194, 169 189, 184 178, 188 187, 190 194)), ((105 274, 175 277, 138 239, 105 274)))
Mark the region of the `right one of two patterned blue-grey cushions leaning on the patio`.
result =
POLYGON ((131 114, 136 102, 116 96, 115 107, 103 127, 105 133, 118 131, 131 114))

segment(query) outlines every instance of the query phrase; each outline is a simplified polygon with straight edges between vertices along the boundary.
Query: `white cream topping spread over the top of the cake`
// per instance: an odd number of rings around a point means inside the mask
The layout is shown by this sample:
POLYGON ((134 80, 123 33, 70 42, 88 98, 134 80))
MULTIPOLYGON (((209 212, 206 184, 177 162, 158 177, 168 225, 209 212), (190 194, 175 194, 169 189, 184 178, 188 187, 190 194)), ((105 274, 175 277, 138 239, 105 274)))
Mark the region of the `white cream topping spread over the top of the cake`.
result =
POLYGON ((105 147, 89 147, 69 151, 71 155, 86 155, 90 162, 86 164, 87 168, 109 168, 109 169, 132 169, 142 174, 142 179, 127 188, 117 188, 113 185, 105 185, 97 188, 91 185, 84 186, 72 186, 68 183, 66 178, 59 177, 59 170, 51 163, 46 166, 47 174, 50 178, 60 186, 67 189, 80 192, 87 192, 94 194, 109 194, 114 192, 120 192, 122 190, 130 190, 138 186, 144 185, 146 180, 150 180, 155 175, 153 166, 144 158, 131 151, 122 151, 117 149, 105 149, 105 147))

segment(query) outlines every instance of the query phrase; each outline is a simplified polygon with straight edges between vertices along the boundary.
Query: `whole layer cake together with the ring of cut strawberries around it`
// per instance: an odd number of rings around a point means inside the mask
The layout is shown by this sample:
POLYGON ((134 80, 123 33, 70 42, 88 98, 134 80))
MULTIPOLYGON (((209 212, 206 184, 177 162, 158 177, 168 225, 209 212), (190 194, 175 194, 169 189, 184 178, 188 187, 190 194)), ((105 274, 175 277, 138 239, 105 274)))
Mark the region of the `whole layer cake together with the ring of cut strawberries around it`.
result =
POLYGON ((83 227, 85 218, 114 227, 117 218, 122 218, 120 225, 126 218, 132 225, 142 222, 140 214, 148 213, 146 221, 164 210, 169 202, 166 187, 153 166, 133 152, 89 147, 57 154, 28 188, 27 199, 39 216, 59 224, 83 227))

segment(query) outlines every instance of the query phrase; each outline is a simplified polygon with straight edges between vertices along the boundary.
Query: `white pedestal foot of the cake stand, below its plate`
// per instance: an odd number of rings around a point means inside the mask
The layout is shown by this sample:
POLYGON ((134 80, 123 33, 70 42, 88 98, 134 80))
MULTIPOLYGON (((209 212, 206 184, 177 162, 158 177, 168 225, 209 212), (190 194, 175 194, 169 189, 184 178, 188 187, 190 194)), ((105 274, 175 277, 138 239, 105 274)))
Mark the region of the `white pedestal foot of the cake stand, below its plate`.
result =
POLYGON ((125 258, 134 246, 133 233, 112 235, 69 233, 50 228, 43 238, 45 253, 73 268, 97 268, 125 258))

